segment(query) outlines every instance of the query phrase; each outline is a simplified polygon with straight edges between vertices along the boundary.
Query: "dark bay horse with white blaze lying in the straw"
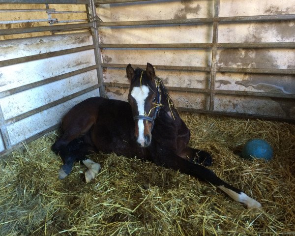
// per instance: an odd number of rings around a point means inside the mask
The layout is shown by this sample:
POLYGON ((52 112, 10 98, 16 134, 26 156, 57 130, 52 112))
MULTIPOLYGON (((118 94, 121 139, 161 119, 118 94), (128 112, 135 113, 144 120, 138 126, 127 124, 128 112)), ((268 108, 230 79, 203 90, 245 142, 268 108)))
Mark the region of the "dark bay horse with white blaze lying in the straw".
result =
POLYGON ((85 178, 89 182, 98 174, 100 165, 86 155, 93 151, 115 152, 179 170, 216 185, 248 208, 261 207, 205 167, 212 162, 209 153, 187 147, 190 131, 152 65, 148 63, 146 70, 134 70, 129 64, 126 72, 129 103, 91 97, 74 106, 62 119, 63 134, 52 148, 64 163, 59 178, 70 174, 75 161, 82 161, 88 168, 85 178))

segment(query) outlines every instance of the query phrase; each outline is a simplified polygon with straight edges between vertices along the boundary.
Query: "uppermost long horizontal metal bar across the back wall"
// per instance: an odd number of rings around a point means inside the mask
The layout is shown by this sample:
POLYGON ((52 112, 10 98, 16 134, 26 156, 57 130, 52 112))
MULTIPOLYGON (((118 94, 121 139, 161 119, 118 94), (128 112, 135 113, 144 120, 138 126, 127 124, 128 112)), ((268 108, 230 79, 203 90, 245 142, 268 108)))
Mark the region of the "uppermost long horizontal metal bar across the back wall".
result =
POLYGON ((265 16, 235 16, 235 17, 207 17, 192 19, 171 19, 171 20, 152 20, 152 21, 115 21, 99 22, 99 27, 110 26, 148 26, 148 25, 178 25, 178 24, 208 24, 219 23, 238 23, 238 22, 265 22, 265 21, 288 21, 295 20, 295 14, 286 15, 265 15, 265 16))

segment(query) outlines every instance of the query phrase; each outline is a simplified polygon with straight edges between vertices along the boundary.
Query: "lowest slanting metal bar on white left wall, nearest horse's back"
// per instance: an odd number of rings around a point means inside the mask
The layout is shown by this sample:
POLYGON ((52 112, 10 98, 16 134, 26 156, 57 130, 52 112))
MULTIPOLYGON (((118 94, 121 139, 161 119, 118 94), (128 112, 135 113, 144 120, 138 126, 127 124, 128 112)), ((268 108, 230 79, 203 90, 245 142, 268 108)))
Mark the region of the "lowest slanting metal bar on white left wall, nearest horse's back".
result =
POLYGON ((33 115, 39 113, 39 112, 45 111, 45 110, 47 110, 47 109, 49 109, 49 108, 52 108, 52 107, 57 106, 57 105, 59 105, 59 104, 61 104, 61 103, 64 103, 64 102, 66 102, 66 101, 68 101, 68 100, 70 100, 70 99, 73 99, 73 98, 75 98, 75 97, 78 97, 78 96, 80 96, 80 95, 82 95, 82 94, 84 94, 84 93, 87 93, 87 92, 89 92, 89 91, 92 91, 92 90, 94 90, 94 89, 97 89, 97 88, 99 88, 99 86, 100 86, 100 85, 94 85, 94 86, 91 86, 91 87, 89 87, 89 88, 87 88, 87 89, 83 89, 83 90, 81 90, 81 91, 79 91, 79 92, 75 92, 75 93, 70 94, 70 95, 68 95, 68 96, 65 96, 65 97, 63 97, 63 98, 60 98, 60 99, 58 99, 58 100, 56 100, 56 101, 54 101, 54 102, 50 102, 50 103, 45 104, 45 105, 43 105, 43 106, 41 106, 41 107, 38 107, 38 108, 36 108, 36 109, 34 109, 34 110, 31 110, 31 111, 29 111, 29 112, 23 113, 23 114, 21 114, 21 115, 19 115, 19 116, 16 116, 16 117, 13 117, 13 118, 10 118, 10 119, 6 119, 4 122, 5 122, 6 125, 9 125, 9 124, 15 123, 15 122, 17 122, 17 121, 19 121, 19 120, 22 120, 22 119, 28 118, 28 117, 30 117, 30 116, 33 116, 33 115))

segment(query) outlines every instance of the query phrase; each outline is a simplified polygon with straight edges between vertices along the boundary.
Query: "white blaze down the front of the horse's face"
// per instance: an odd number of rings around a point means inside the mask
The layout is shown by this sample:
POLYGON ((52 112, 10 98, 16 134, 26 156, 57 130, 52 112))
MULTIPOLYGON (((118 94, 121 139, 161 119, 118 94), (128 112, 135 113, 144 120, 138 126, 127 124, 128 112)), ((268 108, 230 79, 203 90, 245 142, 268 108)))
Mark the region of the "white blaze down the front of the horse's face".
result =
MULTIPOLYGON (((148 97, 149 89, 147 86, 143 85, 142 87, 134 87, 131 91, 131 96, 135 99, 137 103, 137 110, 139 113, 139 116, 145 115, 145 100, 148 97)), ((145 135, 144 135, 144 120, 138 119, 138 138, 137 142, 141 144, 142 147, 144 147, 145 143, 145 135)))

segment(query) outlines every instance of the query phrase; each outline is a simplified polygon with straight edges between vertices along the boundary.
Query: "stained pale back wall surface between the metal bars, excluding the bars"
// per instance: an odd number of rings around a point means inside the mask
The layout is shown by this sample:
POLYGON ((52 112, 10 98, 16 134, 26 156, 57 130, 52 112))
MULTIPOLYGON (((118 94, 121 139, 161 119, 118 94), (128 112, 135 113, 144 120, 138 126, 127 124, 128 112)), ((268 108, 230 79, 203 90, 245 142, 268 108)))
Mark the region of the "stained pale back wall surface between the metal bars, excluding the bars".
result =
MULTIPOLYGON (((219 17, 295 14, 294 0, 220 0, 219 17)), ((97 12, 103 22, 152 21, 208 18, 214 16, 213 0, 148 1, 101 4, 97 12)), ((152 23, 151 23, 152 24, 152 23)), ((212 43, 213 23, 125 27, 101 27, 103 44, 212 43)), ((218 43, 295 42, 295 19, 252 23, 219 23, 218 43)), ((197 48, 103 48, 104 63, 211 67, 212 50, 197 48)), ((295 69, 295 49, 218 48, 218 68, 295 69)), ((157 67, 157 66, 156 66, 157 67)), ((210 89, 210 73, 203 71, 160 70, 157 75, 170 87, 210 89)), ((126 100, 128 84, 125 70, 105 66, 104 81, 110 98, 126 100), (115 86, 115 87, 114 87, 115 86)), ((261 93, 295 94, 294 74, 216 73, 214 111, 295 118, 295 99, 271 97, 261 93), (260 96, 224 95, 218 91, 260 92, 260 96)), ((209 94, 174 91, 177 107, 209 109, 209 94)))

